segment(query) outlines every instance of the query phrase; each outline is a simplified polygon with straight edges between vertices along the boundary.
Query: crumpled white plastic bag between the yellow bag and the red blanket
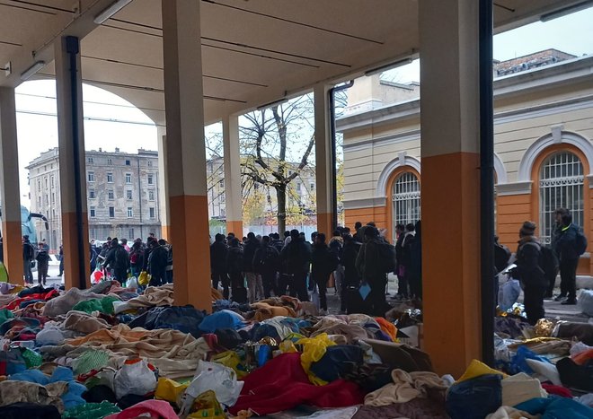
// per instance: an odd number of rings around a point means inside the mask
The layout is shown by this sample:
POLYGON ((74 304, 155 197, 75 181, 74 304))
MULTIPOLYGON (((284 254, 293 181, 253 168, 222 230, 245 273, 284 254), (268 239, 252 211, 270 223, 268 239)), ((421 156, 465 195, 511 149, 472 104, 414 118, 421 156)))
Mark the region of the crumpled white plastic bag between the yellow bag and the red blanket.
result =
POLYGON ((221 405, 234 406, 241 394, 243 384, 243 381, 237 381, 235 371, 225 365, 200 360, 195 378, 181 397, 180 417, 189 415, 196 397, 208 390, 215 392, 221 405))

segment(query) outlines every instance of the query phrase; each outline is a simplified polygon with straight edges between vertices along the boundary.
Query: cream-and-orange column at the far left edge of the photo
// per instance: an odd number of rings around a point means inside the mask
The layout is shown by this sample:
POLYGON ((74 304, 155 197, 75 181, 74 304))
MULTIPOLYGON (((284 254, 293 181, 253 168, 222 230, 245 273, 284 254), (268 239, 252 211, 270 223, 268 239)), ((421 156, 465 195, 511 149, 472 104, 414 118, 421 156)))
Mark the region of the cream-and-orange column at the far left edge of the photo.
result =
POLYGON ((13 284, 22 283, 21 190, 14 89, 0 87, 0 205, 4 265, 13 284))

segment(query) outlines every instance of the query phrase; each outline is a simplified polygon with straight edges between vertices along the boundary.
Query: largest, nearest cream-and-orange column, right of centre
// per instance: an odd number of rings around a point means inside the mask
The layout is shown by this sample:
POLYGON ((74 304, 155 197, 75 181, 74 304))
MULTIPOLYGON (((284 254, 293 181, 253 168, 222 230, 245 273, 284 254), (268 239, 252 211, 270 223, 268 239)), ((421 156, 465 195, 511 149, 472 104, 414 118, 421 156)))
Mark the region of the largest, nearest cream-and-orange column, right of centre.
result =
POLYGON ((425 350, 458 377, 481 358, 478 2, 420 2, 425 350))

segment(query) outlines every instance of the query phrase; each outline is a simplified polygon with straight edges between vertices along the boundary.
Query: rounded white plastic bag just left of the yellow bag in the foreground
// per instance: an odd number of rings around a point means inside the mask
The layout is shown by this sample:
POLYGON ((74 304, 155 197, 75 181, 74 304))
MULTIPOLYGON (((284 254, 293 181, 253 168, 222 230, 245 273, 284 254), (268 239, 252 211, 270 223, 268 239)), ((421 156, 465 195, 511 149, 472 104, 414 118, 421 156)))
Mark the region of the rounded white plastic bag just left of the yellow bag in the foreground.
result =
POLYGON ((127 361, 115 373, 113 387, 118 400, 128 394, 144 396, 146 393, 155 391, 155 371, 148 368, 146 360, 127 361))

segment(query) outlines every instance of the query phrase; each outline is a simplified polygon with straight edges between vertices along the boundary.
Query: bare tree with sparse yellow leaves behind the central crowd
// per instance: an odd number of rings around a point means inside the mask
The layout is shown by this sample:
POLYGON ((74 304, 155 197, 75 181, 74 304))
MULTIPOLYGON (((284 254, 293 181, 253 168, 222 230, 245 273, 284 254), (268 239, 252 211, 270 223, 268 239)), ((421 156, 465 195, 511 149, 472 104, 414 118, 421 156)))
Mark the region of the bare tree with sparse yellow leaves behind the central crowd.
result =
POLYGON ((309 163, 314 149, 313 95, 306 94, 287 103, 244 115, 241 127, 242 175, 244 190, 260 184, 274 188, 279 231, 287 220, 288 184, 309 163))

